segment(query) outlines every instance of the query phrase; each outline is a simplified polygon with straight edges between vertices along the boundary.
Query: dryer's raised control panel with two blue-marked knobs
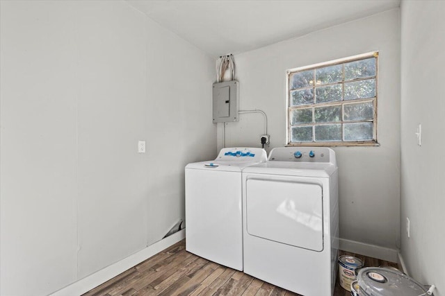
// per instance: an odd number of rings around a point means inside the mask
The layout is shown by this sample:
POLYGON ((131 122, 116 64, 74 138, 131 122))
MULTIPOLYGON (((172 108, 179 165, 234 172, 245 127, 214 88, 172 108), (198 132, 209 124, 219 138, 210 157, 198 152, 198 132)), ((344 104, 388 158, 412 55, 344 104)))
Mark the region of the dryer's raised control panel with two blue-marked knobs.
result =
POLYGON ((270 151, 269 162, 335 162, 334 150, 325 147, 282 147, 270 151))

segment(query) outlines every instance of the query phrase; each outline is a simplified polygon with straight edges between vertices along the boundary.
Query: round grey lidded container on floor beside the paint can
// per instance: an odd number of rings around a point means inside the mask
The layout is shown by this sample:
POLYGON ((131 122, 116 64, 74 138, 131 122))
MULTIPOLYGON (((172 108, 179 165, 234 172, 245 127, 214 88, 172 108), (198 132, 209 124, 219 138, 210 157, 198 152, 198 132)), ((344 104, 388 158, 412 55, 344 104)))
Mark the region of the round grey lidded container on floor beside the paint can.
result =
POLYGON ((389 268, 362 268, 357 281, 364 296, 418 296, 426 293, 414 279, 389 268))

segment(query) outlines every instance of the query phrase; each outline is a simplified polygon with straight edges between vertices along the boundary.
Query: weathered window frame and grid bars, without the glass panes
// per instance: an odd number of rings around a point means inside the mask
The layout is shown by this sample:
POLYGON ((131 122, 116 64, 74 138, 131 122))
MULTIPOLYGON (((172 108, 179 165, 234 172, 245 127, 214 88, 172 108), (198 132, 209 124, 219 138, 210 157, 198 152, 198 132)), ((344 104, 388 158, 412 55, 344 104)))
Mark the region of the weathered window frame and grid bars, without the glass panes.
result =
MULTIPOLYGON (((344 68, 343 68, 343 75, 344 75, 344 68)), ((314 90, 314 96, 316 96, 316 88, 321 87, 320 85, 317 86, 313 84, 310 87, 302 87, 300 89, 313 89, 314 90)), ((298 67, 295 69, 289 69, 286 71, 286 146, 380 146, 380 143, 378 143, 378 51, 373 51, 370 53, 364 53, 361 55, 354 55, 348 58, 342 58, 339 60, 332 60, 329 62, 322 62, 318 64, 312 64, 305 67, 298 67), (341 98, 341 101, 332 101, 332 102, 323 102, 323 103, 312 103, 309 105, 299 105, 299 106, 292 106, 291 105, 291 92, 295 91, 296 89, 290 89, 290 79, 293 73, 300 72, 300 71, 307 71, 312 70, 316 71, 316 69, 324 68, 324 67, 330 67, 338 64, 346 64, 348 62, 355 62, 358 60, 366 60, 368 58, 375 58, 375 76, 371 77, 365 77, 365 78, 355 78, 353 80, 341 80, 340 82, 332 82, 332 83, 326 83, 324 85, 321 85, 322 87, 329 86, 329 85, 341 85, 342 86, 342 93, 344 94, 344 84, 346 82, 355 82, 355 81, 362 81, 362 80, 368 80, 371 78, 375 79, 375 96, 371 98, 357 98, 353 100, 344 100, 343 96, 341 98), (373 102, 373 139, 371 140, 355 140, 355 141, 344 141, 343 140, 343 131, 344 131, 344 123, 360 123, 360 122, 371 122, 360 120, 360 121, 344 121, 344 106, 348 105, 350 103, 364 103, 364 102, 373 102), (291 125, 291 112, 292 110, 298 110, 298 109, 305 109, 312 107, 313 113, 316 107, 326 107, 326 106, 334 106, 334 105, 340 105, 341 106, 341 120, 338 122, 341 124, 341 141, 316 141, 314 134, 315 126, 323 125, 323 124, 335 124, 333 122, 330 123, 315 123, 314 122, 314 115, 313 115, 313 121, 312 123, 300 123, 298 126, 312 126, 313 131, 313 139, 312 141, 301 141, 301 142, 291 142, 291 131, 292 127, 296 125, 291 125)))

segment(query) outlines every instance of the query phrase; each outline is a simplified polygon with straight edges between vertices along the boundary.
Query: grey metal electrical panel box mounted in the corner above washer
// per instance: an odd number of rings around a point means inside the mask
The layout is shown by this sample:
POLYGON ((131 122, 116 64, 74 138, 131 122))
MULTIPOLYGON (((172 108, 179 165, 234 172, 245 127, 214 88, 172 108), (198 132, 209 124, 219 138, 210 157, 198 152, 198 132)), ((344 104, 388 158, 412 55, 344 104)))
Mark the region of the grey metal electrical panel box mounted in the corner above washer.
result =
POLYGON ((238 81, 213 83, 213 123, 238 121, 238 81))

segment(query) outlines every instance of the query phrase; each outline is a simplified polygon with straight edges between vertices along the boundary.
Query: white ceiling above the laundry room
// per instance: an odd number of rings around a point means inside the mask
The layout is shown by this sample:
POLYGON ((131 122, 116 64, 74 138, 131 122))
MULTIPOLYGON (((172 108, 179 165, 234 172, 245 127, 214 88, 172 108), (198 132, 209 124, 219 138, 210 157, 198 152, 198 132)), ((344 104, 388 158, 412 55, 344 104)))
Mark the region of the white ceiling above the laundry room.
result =
POLYGON ((127 0, 213 57, 268 44, 397 8, 401 0, 127 0))

